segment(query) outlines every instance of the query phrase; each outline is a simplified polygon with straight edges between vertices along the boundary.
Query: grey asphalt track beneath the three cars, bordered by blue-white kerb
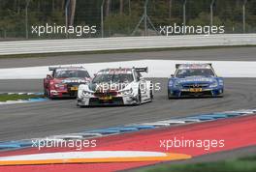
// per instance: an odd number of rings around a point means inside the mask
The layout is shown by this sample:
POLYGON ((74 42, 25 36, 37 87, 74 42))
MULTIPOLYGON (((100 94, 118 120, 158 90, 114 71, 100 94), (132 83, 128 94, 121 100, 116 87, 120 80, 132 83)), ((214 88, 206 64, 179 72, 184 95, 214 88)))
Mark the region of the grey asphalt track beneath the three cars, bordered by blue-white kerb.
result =
MULTIPOLYGON (((224 98, 167 99, 167 79, 153 102, 140 106, 79 108, 76 100, 48 100, 0 106, 0 140, 42 137, 216 111, 255 108, 256 79, 226 78, 224 98)), ((33 80, 36 82, 36 80, 33 80)), ((38 85, 42 83, 38 80, 38 85)), ((30 83, 29 80, 24 82, 30 83)), ((2 84, 1 84, 2 85, 2 84)))

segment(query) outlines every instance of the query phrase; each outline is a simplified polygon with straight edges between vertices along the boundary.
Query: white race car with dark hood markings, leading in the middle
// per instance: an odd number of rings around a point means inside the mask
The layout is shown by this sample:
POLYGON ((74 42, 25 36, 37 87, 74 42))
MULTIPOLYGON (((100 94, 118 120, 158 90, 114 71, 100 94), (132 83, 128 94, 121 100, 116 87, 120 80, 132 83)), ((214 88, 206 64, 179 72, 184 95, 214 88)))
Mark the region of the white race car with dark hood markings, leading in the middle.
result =
POLYGON ((153 100, 152 82, 141 72, 147 68, 106 69, 81 84, 78 106, 141 104, 153 100))

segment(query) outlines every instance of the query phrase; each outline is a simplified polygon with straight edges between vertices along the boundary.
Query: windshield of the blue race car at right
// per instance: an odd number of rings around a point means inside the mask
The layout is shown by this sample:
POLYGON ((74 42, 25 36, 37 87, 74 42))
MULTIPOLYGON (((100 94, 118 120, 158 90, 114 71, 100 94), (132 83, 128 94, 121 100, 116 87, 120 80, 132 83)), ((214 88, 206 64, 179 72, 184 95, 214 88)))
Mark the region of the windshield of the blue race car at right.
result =
POLYGON ((211 69, 182 69, 176 72, 176 77, 206 76, 213 77, 215 74, 211 69))

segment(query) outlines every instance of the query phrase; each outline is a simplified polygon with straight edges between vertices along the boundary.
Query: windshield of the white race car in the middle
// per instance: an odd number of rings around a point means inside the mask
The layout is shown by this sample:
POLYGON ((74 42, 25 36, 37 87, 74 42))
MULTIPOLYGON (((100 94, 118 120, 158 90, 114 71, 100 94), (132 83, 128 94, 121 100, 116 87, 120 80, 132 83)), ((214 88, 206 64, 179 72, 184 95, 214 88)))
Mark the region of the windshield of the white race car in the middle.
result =
POLYGON ((93 83, 104 83, 104 82, 113 82, 113 83, 127 83, 132 82, 133 74, 132 73, 114 73, 114 74, 98 74, 92 80, 93 83))

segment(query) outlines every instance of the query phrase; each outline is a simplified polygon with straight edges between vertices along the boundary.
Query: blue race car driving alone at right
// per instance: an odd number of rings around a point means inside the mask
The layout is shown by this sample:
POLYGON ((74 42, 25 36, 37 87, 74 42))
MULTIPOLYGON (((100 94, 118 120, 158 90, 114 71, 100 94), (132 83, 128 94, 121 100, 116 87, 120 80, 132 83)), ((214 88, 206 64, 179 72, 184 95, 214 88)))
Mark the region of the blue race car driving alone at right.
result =
POLYGON ((224 81, 211 64, 176 64, 168 80, 168 99, 181 97, 223 97, 224 81))

